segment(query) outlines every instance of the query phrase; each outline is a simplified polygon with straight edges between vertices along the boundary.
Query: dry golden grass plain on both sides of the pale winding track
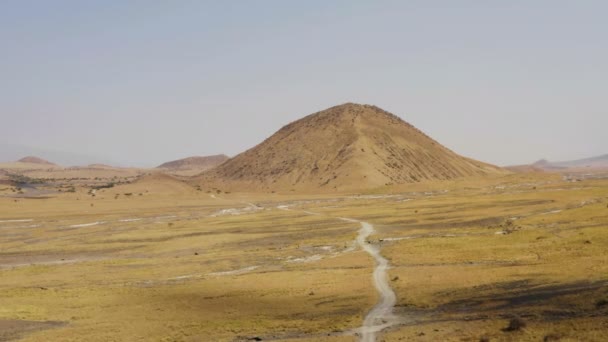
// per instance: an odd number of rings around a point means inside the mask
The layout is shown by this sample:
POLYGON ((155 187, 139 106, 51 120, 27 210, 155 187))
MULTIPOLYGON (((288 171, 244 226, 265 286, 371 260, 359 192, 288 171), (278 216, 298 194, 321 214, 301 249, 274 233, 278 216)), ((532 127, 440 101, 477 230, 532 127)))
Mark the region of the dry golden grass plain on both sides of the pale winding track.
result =
POLYGON ((361 195, 209 194, 163 177, 95 196, 0 188, 0 341, 356 340, 374 264, 339 217, 374 224, 392 266, 402 324, 378 340, 606 339, 606 179, 361 195), (525 326, 503 331, 514 318, 525 326))

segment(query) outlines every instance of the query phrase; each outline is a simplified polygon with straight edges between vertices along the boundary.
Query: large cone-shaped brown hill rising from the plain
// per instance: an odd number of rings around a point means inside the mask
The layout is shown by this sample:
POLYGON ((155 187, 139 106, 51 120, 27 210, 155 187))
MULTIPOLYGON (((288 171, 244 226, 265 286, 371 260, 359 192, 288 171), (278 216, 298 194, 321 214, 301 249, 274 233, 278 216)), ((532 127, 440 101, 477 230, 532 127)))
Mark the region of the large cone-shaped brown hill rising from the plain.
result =
POLYGON ((455 154, 378 107, 347 103, 281 128, 197 181, 230 191, 355 190, 506 172, 455 154))

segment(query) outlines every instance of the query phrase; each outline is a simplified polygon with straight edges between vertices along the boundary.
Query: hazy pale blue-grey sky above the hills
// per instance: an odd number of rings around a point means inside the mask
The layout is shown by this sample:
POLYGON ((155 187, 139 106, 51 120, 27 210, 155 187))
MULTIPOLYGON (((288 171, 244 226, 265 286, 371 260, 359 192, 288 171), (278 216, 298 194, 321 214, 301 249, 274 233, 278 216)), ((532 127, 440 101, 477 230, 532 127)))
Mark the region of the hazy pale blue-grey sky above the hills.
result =
POLYGON ((607 13, 606 1, 4 0, 0 142, 155 166, 235 155, 358 102, 499 165, 605 154, 607 13))

